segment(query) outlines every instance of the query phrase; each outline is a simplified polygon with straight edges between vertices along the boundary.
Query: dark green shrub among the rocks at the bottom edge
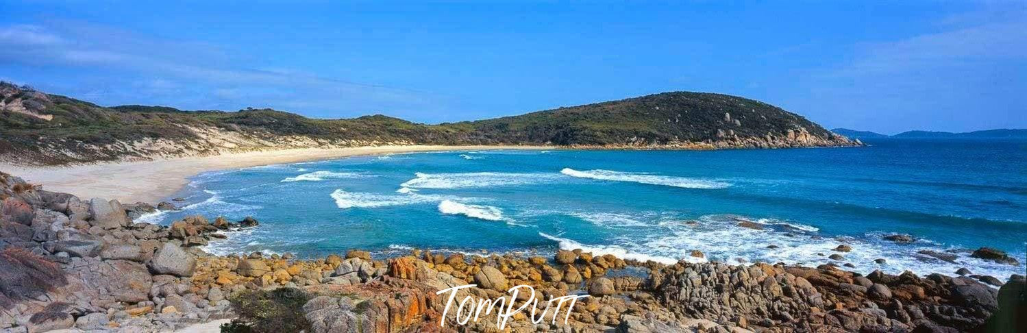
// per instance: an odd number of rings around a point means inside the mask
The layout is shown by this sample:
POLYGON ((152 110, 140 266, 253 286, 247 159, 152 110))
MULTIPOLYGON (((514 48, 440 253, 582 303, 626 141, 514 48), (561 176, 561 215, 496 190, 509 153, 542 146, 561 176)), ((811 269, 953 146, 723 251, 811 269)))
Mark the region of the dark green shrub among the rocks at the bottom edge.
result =
POLYGON ((225 333, 281 333, 310 330, 303 313, 303 304, 310 296, 296 288, 248 290, 229 298, 239 318, 222 324, 225 333))

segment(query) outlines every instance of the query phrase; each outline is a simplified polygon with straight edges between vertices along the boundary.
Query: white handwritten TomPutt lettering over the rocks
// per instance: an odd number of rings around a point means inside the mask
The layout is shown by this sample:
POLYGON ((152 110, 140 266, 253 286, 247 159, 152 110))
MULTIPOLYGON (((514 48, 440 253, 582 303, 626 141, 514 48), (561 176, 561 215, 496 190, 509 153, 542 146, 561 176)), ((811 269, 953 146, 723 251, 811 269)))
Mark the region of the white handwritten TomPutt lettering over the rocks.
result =
MULTIPOLYGON (((453 301, 456 300, 456 293, 461 289, 471 288, 474 286, 478 285, 456 286, 435 292, 435 295, 450 293, 449 299, 446 301, 446 308, 443 310, 443 318, 439 321, 440 327, 446 327, 446 316, 449 313, 450 308, 452 308, 453 301)), ((554 307, 553 303, 556 302, 557 305, 556 308, 553 309, 553 321, 550 322, 551 324, 556 324, 557 316, 560 313, 560 308, 564 306, 564 303, 569 301, 570 303, 567 305, 567 314, 564 316, 564 325, 567 325, 567 320, 571 316, 571 310, 574 309, 574 303, 576 303, 579 298, 588 297, 588 295, 550 297, 549 300, 546 301, 545 308, 542 310, 542 313, 536 318, 535 312, 538 310, 539 298, 535 297, 535 288, 526 285, 519 285, 514 286, 514 288, 510 288, 506 292, 510 294, 509 303, 506 302, 506 297, 499 297, 498 299, 480 298, 477 300, 471 296, 464 297, 460 300, 460 304, 457 305, 456 308, 456 313, 454 313, 456 323, 459 325, 466 325, 467 322, 470 322, 471 317, 473 317, 474 323, 478 323, 478 320, 483 314, 483 311, 485 312, 485 316, 488 316, 493 309, 495 309, 496 326, 502 330, 503 327, 506 327, 506 322, 509 321, 510 318, 525 310, 528 306, 531 306, 531 316, 528 318, 531 319, 532 324, 538 324, 545 320, 545 313, 554 307), (518 295, 520 295, 522 289, 526 289, 528 292, 531 292, 531 294, 529 294, 528 300, 525 301, 524 304, 517 309, 514 309, 514 305, 517 303, 516 300, 518 299, 518 295), (496 308, 496 305, 499 307, 496 308), (466 317, 463 314, 464 311, 467 313, 466 317)))

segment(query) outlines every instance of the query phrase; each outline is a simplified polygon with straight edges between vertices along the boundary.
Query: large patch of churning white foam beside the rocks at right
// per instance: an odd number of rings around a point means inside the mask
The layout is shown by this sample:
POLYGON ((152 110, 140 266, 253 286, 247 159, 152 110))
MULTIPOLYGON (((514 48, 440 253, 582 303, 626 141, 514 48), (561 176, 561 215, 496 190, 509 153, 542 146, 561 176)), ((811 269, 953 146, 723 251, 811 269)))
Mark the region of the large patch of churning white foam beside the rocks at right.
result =
MULTIPOLYGON (((817 266, 829 262, 838 265, 851 263, 855 267, 845 267, 844 269, 862 273, 880 269, 891 274, 910 270, 920 275, 934 272, 952 275, 960 267, 966 267, 974 273, 1005 279, 1023 267, 971 258, 969 253, 965 251, 946 252, 955 249, 939 247, 931 242, 897 245, 883 240, 879 234, 861 237, 823 237, 815 234, 814 231, 796 232, 798 229, 796 225, 806 229, 814 228, 774 219, 752 219, 736 215, 708 215, 698 218, 697 223, 693 224, 667 222, 653 226, 653 228, 658 227, 659 229, 634 227, 637 232, 632 231, 627 235, 610 238, 604 242, 604 245, 581 245, 571 239, 553 236, 547 236, 547 238, 561 242, 561 248, 565 250, 580 248, 585 251, 613 255, 625 252, 629 255, 687 261, 716 260, 732 264, 783 262, 817 266), (741 227, 738 226, 739 218, 762 223, 768 227, 764 229, 741 227), (849 245, 852 251, 844 253, 834 251, 841 244, 849 245), (767 247, 771 245, 776 248, 768 249, 767 247), (692 250, 701 251, 706 259, 691 257, 692 250), (931 258, 919 253, 923 250, 946 252, 955 255, 955 259, 948 262, 931 258), (829 259, 828 256, 832 254, 840 254, 844 260, 829 259), (878 258, 885 259, 885 263, 874 262, 878 258)), ((673 262, 672 260, 664 261, 673 262)))

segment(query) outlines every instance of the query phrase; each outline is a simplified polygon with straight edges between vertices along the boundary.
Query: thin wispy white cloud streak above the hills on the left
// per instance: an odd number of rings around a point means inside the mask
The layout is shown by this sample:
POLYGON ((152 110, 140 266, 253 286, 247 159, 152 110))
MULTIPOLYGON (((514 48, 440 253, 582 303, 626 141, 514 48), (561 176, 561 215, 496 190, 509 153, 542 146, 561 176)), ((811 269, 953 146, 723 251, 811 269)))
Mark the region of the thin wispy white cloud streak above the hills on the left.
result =
POLYGON ((100 103, 169 102, 194 109, 299 107, 293 111, 326 117, 380 111, 416 118, 418 110, 440 107, 426 91, 294 69, 246 67, 251 60, 237 55, 244 53, 82 22, 0 25, 0 62, 104 72, 56 87, 100 103))

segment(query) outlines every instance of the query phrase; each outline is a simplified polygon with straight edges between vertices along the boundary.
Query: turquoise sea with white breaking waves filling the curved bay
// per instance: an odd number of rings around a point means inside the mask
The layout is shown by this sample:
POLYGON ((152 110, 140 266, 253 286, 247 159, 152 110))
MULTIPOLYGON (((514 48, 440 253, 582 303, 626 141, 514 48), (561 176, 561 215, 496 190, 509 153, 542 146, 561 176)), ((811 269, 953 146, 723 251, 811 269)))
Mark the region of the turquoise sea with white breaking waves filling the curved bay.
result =
MULTIPOLYGON (((498 150, 363 156, 195 177, 182 212, 252 215, 260 227, 208 251, 362 248, 468 253, 582 248, 674 262, 851 263, 1007 278, 1027 239, 1027 142, 878 140, 864 148, 722 151, 498 150), (737 226, 749 220, 755 230, 737 226), (910 233, 912 245, 882 240, 910 233), (849 244, 844 261, 827 256, 849 244), (768 249, 768 246, 776 249, 768 249), (919 254, 956 252, 956 262, 919 254), (874 259, 884 258, 877 264, 874 259)), ((545 252, 543 252, 545 253, 545 252)))

